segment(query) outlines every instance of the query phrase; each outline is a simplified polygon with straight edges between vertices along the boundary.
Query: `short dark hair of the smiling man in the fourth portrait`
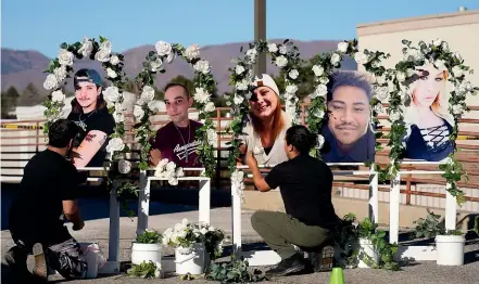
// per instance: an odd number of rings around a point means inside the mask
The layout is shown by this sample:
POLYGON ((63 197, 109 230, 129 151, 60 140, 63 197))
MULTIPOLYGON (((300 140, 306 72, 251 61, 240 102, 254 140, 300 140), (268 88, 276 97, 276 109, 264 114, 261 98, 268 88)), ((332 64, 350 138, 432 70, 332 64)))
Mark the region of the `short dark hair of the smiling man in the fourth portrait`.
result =
POLYGON ((373 88, 366 76, 356 70, 338 70, 329 76, 329 81, 326 85, 328 89, 327 101, 332 101, 332 94, 339 87, 356 87, 366 92, 367 99, 370 102, 373 98, 373 88))

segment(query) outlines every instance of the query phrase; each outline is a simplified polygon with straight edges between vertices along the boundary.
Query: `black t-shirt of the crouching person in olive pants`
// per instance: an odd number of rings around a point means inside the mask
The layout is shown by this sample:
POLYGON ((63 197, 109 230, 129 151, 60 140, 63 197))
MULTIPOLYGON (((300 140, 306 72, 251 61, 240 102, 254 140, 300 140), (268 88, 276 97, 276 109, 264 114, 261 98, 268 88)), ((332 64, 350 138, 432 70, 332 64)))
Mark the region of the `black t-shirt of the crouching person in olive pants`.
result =
POLYGON ((274 167, 265 181, 272 189, 279 186, 287 214, 307 225, 332 229, 332 172, 324 162, 300 155, 274 167))

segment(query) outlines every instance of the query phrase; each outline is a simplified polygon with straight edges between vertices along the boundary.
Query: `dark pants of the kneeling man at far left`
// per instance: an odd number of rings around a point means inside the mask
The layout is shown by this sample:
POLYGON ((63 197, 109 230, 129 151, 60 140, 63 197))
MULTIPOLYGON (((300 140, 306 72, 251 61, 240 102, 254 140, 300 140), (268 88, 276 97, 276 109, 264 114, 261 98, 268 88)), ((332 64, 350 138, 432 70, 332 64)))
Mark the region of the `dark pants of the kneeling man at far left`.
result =
POLYGON ((78 242, 72 236, 56 244, 24 241, 15 237, 13 237, 13 241, 25 255, 31 254, 35 243, 41 243, 48 267, 56 270, 65 279, 85 279, 87 274, 88 264, 83 258, 78 242))

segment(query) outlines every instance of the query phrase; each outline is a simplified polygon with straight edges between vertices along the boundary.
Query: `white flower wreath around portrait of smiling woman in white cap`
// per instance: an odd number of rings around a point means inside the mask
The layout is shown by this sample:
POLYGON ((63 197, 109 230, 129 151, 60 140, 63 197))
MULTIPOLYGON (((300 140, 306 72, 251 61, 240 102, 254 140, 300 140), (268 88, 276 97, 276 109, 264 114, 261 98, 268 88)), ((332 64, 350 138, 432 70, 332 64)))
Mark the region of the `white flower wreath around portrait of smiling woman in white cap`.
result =
MULTIPOLYGON (((243 49, 241 48, 240 52, 243 49)), ((231 171, 231 182, 236 184, 238 194, 242 196, 242 190, 244 184, 242 182, 244 173, 238 171, 236 168, 236 157, 239 155, 239 141, 238 137, 242 133, 242 130, 247 122, 249 104, 248 100, 251 98, 250 86, 254 80, 253 67, 256 62, 257 54, 265 52, 272 56, 272 63, 278 66, 281 73, 285 74, 285 94, 278 94, 286 102, 286 113, 292 118, 292 122, 297 124, 299 118, 299 99, 297 96, 300 57, 298 48, 292 41, 288 39, 282 44, 268 43, 267 41, 260 40, 249 44, 249 49, 245 51, 243 59, 236 61, 236 66, 229 68, 231 73, 230 85, 234 86, 235 94, 232 98, 226 96, 227 105, 231 106, 234 120, 229 125, 229 129, 234 132, 234 138, 230 143, 232 149, 232 155, 229 155, 229 169, 231 171)), ((256 149, 256 152, 262 151, 256 149)))

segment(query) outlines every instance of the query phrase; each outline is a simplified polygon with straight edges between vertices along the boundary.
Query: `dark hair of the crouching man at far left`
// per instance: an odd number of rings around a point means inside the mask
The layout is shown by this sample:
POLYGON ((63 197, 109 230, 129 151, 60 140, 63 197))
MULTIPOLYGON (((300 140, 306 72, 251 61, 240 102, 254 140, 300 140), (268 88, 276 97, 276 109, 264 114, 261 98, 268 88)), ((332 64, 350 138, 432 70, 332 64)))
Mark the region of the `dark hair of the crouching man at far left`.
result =
POLYGON ((59 119, 54 121, 48 130, 48 144, 53 147, 66 147, 72 139, 81 133, 74 121, 59 119))

